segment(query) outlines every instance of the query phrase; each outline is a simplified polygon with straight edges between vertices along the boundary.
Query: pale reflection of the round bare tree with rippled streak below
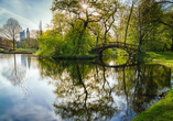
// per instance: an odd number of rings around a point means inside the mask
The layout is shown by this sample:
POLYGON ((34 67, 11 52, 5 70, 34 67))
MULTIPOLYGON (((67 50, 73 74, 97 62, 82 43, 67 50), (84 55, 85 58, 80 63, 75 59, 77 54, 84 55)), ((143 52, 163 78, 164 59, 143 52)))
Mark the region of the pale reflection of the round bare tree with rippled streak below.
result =
MULTIPOLYGON (((12 56, 9 56, 12 57, 12 56)), ((13 59, 14 59, 14 67, 12 68, 7 68, 3 72, 3 76, 7 77, 8 80, 12 82, 12 85, 17 86, 19 85, 21 90, 24 94, 24 99, 29 97, 30 94, 30 88, 28 87, 29 78, 26 77, 26 72, 25 69, 21 68, 20 66, 17 65, 17 58, 15 54, 13 54, 13 59)))

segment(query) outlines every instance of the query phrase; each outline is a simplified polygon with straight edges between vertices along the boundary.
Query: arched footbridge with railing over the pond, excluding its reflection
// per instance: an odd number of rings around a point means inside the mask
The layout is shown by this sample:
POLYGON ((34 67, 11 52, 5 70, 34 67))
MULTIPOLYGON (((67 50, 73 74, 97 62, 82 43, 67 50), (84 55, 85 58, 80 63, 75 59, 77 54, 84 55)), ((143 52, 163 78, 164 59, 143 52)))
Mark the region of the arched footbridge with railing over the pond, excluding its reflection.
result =
POLYGON ((102 52, 107 48, 122 48, 129 53, 129 55, 132 54, 132 52, 139 52, 139 46, 133 45, 133 44, 128 44, 128 43, 122 43, 122 42, 109 42, 108 44, 97 44, 95 45, 93 52, 99 53, 99 55, 102 56, 102 52))

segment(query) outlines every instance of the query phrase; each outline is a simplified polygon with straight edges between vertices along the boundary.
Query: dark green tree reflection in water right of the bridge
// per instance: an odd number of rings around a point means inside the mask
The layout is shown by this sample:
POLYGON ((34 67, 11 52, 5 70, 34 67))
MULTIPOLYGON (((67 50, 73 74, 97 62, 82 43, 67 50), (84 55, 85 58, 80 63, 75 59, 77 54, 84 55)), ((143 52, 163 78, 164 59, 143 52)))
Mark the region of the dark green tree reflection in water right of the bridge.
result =
MULTIPOLYGON (((126 68, 125 74, 119 73, 119 87, 123 86, 126 79, 126 90, 129 105, 141 112, 154 102, 160 88, 170 88, 170 68, 161 65, 141 65, 137 69, 126 68), (123 77, 125 76, 125 77, 123 77)), ((119 90, 121 92, 121 90, 119 90)))

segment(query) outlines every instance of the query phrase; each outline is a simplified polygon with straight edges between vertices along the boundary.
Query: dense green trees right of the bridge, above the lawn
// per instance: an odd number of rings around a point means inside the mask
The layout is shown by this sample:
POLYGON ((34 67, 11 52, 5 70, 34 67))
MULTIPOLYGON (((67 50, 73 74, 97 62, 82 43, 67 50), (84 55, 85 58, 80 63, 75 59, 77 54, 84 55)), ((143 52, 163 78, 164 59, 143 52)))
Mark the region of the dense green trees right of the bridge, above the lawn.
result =
POLYGON ((147 51, 173 51, 173 2, 133 0, 132 6, 126 9, 117 29, 119 40, 126 40, 127 31, 128 43, 139 43, 147 51))

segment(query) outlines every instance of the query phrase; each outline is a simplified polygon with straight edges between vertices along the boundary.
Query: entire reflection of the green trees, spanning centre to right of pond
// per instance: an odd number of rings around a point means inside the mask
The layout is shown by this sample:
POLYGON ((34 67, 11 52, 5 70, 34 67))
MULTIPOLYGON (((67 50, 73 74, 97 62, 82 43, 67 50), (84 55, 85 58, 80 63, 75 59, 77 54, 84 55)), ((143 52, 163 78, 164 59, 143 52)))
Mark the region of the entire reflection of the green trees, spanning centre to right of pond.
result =
MULTIPOLYGON (((88 62, 40 61, 43 78, 51 77, 63 119, 110 120, 121 111, 115 95, 127 102, 126 116, 139 113, 155 100, 160 88, 170 88, 170 69, 161 65, 106 67, 88 62), (112 78, 112 84, 109 78, 112 78)), ((127 118, 128 119, 128 118, 127 118)))

